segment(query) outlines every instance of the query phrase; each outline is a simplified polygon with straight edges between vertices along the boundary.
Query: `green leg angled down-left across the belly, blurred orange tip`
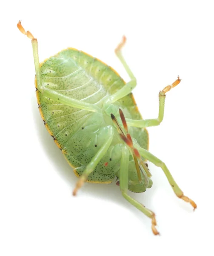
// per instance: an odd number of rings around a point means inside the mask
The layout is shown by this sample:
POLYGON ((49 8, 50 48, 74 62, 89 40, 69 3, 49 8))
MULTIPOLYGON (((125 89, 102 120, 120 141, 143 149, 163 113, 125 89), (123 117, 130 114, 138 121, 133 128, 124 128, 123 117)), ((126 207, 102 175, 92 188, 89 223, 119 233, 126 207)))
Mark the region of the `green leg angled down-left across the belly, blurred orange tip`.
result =
POLYGON ((108 148, 111 145, 111 141, 113 139, 113 136, 114 136, 114 128, 111 125, 109 125, 108 126, 108 136, 106 137, 106 142, 103 144, 103 146, 97 152, 97 154, 95 154, 95 156, 92 158, 91 162, 86 167, 86 170, 80 176, 79 180, 77 181, 76 187, 74 188, 73 195, 77 195, 77 191, 86 182, 86 180, 88 178, 88 175, 90 175, 91 172, 94 171, 94 169, 96 168, 97 164, 105 156, 108 148))

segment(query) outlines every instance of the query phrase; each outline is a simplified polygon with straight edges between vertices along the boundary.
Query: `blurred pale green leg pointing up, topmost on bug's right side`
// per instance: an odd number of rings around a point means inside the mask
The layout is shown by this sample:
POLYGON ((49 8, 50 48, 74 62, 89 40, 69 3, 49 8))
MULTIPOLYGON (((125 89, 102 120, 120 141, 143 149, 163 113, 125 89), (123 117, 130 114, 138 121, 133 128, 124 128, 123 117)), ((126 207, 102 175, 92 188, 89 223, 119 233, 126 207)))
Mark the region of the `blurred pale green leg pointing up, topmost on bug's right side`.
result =
POLYGON ((126 83, 123 88, 121 88, 117 93, 114 93, 111 96, 111 102, 116 102, 118 99, 123 98, 124 96, 128 95, 129 93, 131 93, 131 91, 134 89, 134 87, 136 87, 137 82, 136 82, 136 78, 134 76, 134 74, 131 72, 130 68, 128 67, 125 59, 123 58, 122 55, 122 47, 126 42, 126 37, 123 36, 122 42, 118 45, 118 47, 115 49, 115 53, 117 55, 117 57, 120 59, 121 63, 123 64, 123 67, 125 68, 126 72, 128 73, 129 77, 131 78, 131 81, 129 81, 128 83, 126 83))

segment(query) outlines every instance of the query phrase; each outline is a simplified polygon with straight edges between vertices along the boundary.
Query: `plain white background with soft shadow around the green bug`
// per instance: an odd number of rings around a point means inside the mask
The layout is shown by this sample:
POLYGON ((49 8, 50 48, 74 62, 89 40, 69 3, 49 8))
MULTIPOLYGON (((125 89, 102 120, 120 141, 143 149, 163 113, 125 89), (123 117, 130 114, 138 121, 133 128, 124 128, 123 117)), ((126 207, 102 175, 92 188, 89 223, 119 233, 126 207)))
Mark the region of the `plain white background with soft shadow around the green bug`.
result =
POLYGON ((214 255, 212 1, 3 1, 0 4, 0 255, 214 255), (134 89, 149 128, 150 151, 170 169, 185 195, 178 199, 162 170, 150 163, 154 185, 134 198, 153 210, 151 221, 112 185, 86 184, 74 198, 77 177, 49 136, 37 107, 31 42, 40 61, 74 47, 100 58, 128 81, 114 55, 126 35, 124 56, 137 77, 134 89))

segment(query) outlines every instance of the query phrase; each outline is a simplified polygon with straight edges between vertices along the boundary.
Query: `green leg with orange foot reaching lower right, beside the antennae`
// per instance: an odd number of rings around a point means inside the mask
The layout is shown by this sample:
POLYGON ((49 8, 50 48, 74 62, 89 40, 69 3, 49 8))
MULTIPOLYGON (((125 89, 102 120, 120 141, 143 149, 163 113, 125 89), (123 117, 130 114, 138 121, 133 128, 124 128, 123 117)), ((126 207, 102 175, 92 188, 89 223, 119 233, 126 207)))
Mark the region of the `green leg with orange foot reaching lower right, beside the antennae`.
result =
POLYGON ((151 163, 154 163, 154 165, 160 167, 163 172, 165 173, 169 184, 171 185, 172 189, 174 190, 175 195, 177 195, 178 198, 183 199, 185 202, 188 202, 192 205, 194 209, 197 208, 197 205, 193 200, 188 198, 183 194, 183 191, 180 189, 180 187, 177 185, 177 183, 174 181, 171 173, 169 172, 168 168, 166 167, 165 163, 163 163, 160 159, 155 157, 153 154, 151 154, 149 151, 147 151, 144 148, 141 148, 140 146, 135 145, 138 151, 140 152, 140 155, 142 157, 145 157, 147 160, 149 160, 151 163))

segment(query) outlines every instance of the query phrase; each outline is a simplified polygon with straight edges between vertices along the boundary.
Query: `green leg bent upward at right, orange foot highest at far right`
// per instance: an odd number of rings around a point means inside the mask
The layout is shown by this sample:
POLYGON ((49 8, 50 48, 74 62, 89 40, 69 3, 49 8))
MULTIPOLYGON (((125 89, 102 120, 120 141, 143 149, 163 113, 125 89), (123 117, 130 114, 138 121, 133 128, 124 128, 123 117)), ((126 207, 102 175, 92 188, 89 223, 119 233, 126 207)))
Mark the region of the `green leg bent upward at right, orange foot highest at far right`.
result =
POLYGON ((145 119, 145 120, 133 120, 133 119, 126 119, 126 122, 130 126, 146 128, 150 126, 157 126, 163 121, 164 115, 164 106, 165 106, 165 93, 171 90, 171 88, 175 87, 180 83, 181 79, 179 76, 177 80, 174 81, 171 85, 166 86, 162 91, 159 93, 159 113, 156 119, 145 119))

